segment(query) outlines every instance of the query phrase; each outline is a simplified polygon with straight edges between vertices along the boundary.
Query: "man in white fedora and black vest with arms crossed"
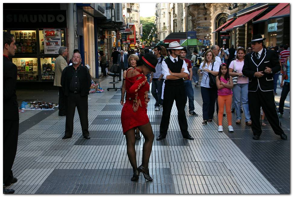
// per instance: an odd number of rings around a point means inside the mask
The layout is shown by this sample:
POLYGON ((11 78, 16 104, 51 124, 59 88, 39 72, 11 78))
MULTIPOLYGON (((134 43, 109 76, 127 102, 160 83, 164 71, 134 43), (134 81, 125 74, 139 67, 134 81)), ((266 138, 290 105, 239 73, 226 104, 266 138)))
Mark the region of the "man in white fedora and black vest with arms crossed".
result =
POLYGON ((189 135, 188 125, 185 115, 185 97, 183 78, 188 77, 189 72, 184 60, 180 59, 181 49, 183 47, 175 41, 169 44, 167 48, 170 52, 170 57, 162 61, 162 74, 164 75, 165 88, 163 99, 163 114, 160 124, 160 135, 157 140, 165 139, 170 122, 170 114, 174 100, 178 111, 178 122, 183 138, 193 140, 189 135))

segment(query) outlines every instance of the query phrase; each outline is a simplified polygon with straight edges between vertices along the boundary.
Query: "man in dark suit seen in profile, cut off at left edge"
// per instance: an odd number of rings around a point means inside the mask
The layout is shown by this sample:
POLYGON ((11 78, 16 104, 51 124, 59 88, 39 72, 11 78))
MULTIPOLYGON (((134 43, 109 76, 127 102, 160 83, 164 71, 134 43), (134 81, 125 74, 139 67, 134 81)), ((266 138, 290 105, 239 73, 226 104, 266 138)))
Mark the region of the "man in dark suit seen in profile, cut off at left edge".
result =
MULTIPOLYGON (((12 34, 3 32, 3 183, 9 186, 17 182, 13 176, 18 141, 18 102, 16 97, 17 67, 9 60, 15 54, 15 40, 12 34)), ((14 193, 14 189, 3 188, 4 194, 14 193)))

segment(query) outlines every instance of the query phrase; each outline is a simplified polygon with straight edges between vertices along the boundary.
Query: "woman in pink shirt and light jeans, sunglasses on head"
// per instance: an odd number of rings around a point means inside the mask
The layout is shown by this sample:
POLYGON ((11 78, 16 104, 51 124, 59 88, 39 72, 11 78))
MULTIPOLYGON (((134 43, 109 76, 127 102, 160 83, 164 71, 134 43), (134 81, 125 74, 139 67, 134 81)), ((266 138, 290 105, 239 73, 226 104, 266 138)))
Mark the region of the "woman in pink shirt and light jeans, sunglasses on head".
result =
POLYGON ((233 86, 233 96, 235 102, 236 111, 236 124, 241 123, 241 102, 245 114, 245 124, 251 126, 250 113, 248 108, 248 77, 242 74, 242 68, 244 66, 244 56, 246 50, 242 47, 238 47, 236 51, 236 60, 231 61, 229 66, 229 75, 231 77, 238 76, 237 84, 233 86), (236 70, 236 72, 233 72, 236 70))

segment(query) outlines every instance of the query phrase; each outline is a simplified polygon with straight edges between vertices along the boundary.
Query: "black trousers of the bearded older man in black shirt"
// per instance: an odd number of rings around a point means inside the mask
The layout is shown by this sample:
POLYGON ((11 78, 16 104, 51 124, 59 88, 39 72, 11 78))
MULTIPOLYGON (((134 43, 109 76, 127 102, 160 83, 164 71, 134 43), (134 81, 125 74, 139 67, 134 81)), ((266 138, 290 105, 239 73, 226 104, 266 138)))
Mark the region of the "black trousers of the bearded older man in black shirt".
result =
POLYGON ((75 107, 77 107, 78 110, 82 135, 88 136, 88 95, 81 96, 80 94, 69 92, 69 95, 66 96, 66 99, 67 114, 65 123, 65 136, 72 137, 75 107))

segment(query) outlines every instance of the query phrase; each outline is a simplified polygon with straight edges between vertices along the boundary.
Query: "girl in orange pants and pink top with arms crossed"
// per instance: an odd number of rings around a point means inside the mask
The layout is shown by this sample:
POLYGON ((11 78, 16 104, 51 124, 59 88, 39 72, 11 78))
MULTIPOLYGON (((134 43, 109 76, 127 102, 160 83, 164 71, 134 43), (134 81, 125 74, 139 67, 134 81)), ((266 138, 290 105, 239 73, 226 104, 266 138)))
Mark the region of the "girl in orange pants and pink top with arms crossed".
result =
POLYGON ((228 65, 221 64, 219 74, 216 77, 216 84, 218 88, 218 132, 223 132, 223 113, 224 113, 224 105, 226 105, 226 113, 228 119, 228 130, 229 132, 233 132, 232 127, 232 113, 231 113, 231 105, 232 105, 232 88, 233 81, 232 77, 229 76, 228 65))

